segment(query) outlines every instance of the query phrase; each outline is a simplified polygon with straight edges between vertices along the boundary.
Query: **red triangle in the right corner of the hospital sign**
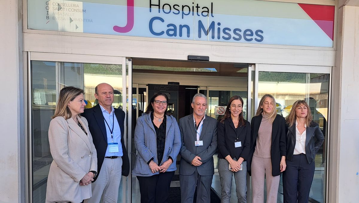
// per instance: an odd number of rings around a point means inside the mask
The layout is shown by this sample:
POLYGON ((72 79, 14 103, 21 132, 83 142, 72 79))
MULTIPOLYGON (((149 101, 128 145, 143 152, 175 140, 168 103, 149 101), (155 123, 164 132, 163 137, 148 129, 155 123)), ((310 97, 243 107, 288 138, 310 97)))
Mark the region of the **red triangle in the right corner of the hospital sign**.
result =
POLYGON ((325 32, 330 39, 334 36, 335 6, 298 4, 314 22, 325 32))

